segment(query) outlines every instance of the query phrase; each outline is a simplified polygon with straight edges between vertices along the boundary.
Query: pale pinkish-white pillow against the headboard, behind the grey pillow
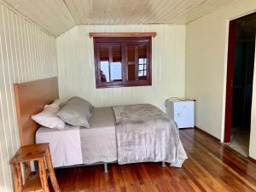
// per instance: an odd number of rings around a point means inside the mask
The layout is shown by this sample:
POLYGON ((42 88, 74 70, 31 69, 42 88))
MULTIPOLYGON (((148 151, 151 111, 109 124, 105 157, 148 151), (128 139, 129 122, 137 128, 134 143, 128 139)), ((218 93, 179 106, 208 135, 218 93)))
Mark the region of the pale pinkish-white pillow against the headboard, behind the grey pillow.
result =
POLYGON ((60 110, 55 103, 45 106, 44 110, 38 114, 32 115, 32 119, 39 125, 43 125, 50 129, 64 130, 66 123, 55 115, 60 110))

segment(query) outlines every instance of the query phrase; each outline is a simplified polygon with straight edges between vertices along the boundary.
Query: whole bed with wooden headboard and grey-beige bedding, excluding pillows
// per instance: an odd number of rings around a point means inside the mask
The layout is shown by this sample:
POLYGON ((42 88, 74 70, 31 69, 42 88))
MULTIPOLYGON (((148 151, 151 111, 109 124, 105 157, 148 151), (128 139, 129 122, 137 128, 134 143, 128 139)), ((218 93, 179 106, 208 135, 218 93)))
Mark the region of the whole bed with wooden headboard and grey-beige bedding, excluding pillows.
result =
POLYGON ((21 145, 49 143, 55 167, 165 162, 180 167, 187 155, 172 119, 149 105, 94 108, 90 129, 49 130, 32 121, 59 96, 57 79, 15 84, 21 145), (29 93, 29 95, 27 95, 29 93))

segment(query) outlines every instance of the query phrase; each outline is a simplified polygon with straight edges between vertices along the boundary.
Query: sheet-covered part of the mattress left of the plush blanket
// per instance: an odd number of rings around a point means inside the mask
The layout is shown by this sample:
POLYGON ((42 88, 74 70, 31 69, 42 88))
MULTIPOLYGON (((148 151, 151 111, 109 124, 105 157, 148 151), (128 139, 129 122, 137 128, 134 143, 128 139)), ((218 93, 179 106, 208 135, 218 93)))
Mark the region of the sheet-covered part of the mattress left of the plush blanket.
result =
POLYGON ((60 131, 40 127, 36 133, 36 143, 49 143, 55 167, 117 160, 113 109, 94 108, 89 123, 89 129, 67 127, 60 131))

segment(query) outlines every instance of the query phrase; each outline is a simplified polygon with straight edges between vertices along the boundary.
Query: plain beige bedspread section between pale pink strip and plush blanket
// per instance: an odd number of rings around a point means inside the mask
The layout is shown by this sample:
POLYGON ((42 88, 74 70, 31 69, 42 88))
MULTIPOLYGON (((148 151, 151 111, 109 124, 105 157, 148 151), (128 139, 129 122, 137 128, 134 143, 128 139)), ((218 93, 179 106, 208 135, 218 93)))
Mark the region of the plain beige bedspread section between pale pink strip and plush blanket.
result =
POLYGON ((89 123, 90 129, 80 129, 83 163, 117 160, 113 109, 94 108, 89 123))

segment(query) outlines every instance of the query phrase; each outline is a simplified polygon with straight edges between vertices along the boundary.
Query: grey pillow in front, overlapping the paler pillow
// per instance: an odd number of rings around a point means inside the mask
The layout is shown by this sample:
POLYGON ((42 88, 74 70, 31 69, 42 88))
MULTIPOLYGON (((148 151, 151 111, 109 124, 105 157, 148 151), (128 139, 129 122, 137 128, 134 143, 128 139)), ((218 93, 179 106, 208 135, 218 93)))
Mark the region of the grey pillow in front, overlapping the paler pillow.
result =
POLYGON ((91 110, 94 108, 90 102, 74 96, 61 106, 61 110, 56 113, 56 115, 64 122, 69 125, 90 128, 88 120, 91 115, 91 110))

